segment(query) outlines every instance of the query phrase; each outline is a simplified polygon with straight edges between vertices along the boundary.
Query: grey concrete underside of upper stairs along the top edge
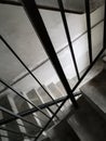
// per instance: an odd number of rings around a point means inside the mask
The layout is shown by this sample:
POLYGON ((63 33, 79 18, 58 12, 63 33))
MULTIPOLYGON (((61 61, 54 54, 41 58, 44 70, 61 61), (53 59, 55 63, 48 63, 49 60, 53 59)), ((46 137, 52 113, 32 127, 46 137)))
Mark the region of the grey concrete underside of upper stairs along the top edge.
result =
MULTIPOLYGON (((59 11, 57 0, 36 0, 41 9, 59 11)), ((18 0, 1 0, 0 3, 21 5, 18 0)), ((85 12, 84 0, 63 0, 66 12, 83 14, 85 12)), ((90 0, 91 12, 104 4, 104 0, 90 0)))

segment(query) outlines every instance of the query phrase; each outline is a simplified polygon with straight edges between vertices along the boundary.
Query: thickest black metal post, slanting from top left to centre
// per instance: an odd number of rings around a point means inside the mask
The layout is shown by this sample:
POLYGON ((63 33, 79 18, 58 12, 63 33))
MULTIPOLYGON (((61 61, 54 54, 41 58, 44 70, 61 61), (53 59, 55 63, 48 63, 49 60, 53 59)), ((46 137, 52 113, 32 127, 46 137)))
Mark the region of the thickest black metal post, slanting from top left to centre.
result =
POLYGON ((65 87, 65 90, 67 92, 67 94, 69 95, 71 102, 74 103, 75 107, 78 107, 78 104, 74 98, 74 94, 71 92, 71 89, 69 87, 69 84, 66 79, 66 76, 63 72, 63 68, 61 66, 61 63, 56 56, 55 50, 53 48, 53 44, 51 42, 51 39, 49 37, 49 34, 47 31, 47 28, 44 26, 44 23, 41 18, 41 15, 38 11, 37 4, 35 3, 35 0, 22 0, 22 3, 26 10, 26 13, 29 16, 29 20, 34 26, 35 31, 37 31, 43 48, 45 49, 45 52, 48 53, 63 86, 65 87))

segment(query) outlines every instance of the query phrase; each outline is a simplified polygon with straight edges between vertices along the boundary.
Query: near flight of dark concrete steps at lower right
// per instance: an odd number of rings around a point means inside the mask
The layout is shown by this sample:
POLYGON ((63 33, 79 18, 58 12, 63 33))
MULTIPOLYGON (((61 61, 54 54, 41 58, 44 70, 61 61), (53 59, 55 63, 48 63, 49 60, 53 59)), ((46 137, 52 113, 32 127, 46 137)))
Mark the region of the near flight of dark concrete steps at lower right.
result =
POLYGON ((48 131, 51 141, 106 141, 105 78, 103 69, 80 88, 79 108, 70 106, 67 116, 48 131))

